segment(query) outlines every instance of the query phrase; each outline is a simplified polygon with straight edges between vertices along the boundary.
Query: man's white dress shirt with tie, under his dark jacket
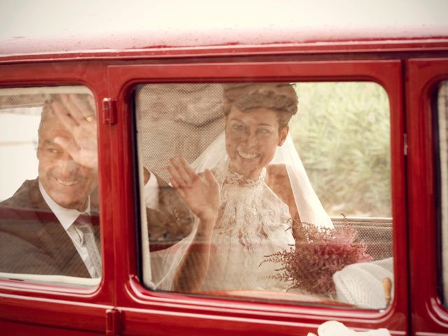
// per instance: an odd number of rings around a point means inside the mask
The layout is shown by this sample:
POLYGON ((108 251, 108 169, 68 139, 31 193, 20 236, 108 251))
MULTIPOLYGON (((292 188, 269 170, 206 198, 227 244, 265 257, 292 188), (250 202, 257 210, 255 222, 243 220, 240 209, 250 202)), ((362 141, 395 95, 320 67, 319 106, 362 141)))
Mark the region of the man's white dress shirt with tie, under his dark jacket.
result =
POLYGON ((84 212, 80 212, 76 209, 66 209, 52 200, 52 198, 48 195, 48 193, 46 193, 45 189, 43 188, 40 180, 38 181, 38 184, 43 200, 45 200, 52 213, 55 214, 57 220, 59 221, 59 223, 61 223, 64 230, 67 232, 67 235, 69 235, 71 241, 73 241, 73 245, 76 247, 76 251, 78 251, 85 267, 87 267, 90 276, 93 277, 95 274, 95 269, 92 265, 92 261, 89 258, 89 253, 87 253, 87 247, 85 245, 81 246, 81 237, 83 236, 83 232, 80 232, 80 230, 75 228, 75 225, 72 225, 74 221, 76 221, 76 218, 78 218, 78 216, 80 216, 81 214, 90 215, 90 198, 87 202, 87 209, 85 209, 84 212))

